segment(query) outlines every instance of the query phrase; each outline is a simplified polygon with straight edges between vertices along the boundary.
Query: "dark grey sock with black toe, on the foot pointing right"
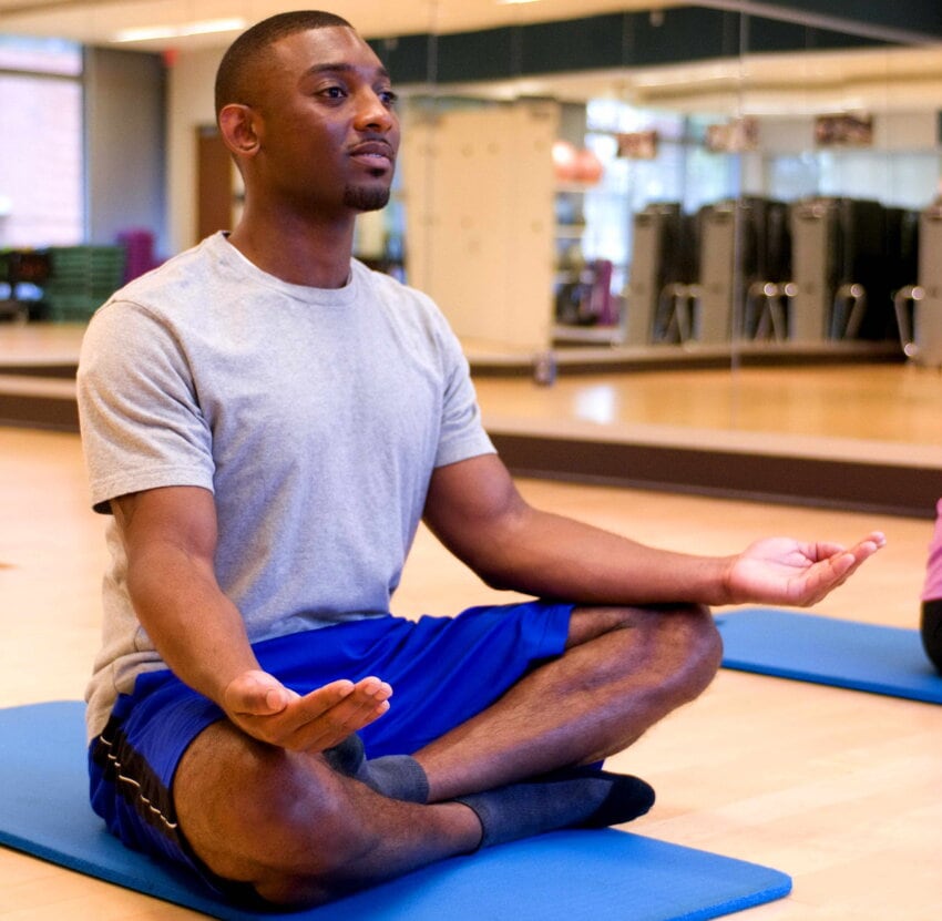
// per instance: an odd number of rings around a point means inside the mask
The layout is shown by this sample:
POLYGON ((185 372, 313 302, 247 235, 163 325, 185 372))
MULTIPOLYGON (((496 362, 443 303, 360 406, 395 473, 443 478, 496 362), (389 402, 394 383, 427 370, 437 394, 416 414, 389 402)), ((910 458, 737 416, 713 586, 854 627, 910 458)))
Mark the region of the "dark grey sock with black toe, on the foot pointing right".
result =
POLYGON ((561 828, 631 821, 651 809, 654 790, 629 775, 573 768, 457 801, 474 810, 481 821, 479 848, 488 848, 561 828))

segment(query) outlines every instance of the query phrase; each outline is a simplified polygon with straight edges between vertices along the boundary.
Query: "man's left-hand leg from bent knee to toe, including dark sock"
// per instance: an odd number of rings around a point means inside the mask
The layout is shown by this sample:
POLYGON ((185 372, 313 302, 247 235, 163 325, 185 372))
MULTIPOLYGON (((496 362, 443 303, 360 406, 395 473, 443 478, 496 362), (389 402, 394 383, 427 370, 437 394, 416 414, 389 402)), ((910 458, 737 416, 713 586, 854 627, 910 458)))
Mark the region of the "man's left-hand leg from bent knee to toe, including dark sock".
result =
POLYGON ((272 903, 299 907, 478 847, 647 811, 651 788, 613 777, 573 771, 426 806, 375 792, 321 755, 266 746, 221 722, 181 760, 174 801, 206 868, 272 903))

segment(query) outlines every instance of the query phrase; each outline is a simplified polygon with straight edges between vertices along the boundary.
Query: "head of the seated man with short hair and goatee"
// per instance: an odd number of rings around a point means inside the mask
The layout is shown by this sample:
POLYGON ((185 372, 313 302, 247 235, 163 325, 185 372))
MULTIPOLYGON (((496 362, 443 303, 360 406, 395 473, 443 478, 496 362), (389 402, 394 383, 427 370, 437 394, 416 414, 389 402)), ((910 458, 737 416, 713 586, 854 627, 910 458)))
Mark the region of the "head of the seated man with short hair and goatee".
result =
POLYGON ((319 218, 382 207, 399 146, 395 99, 376 53, 332 13, 281 13, 242 34, 219 64, 216 108, 247 207, 319 218))

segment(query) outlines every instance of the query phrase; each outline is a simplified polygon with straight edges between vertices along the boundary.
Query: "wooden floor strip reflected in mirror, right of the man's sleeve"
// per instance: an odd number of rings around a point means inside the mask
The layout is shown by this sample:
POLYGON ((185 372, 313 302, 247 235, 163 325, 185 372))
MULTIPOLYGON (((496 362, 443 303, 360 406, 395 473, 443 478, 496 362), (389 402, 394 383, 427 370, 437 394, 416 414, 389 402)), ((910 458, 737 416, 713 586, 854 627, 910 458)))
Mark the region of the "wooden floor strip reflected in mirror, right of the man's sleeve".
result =
POLYGON ((942 375, 912 365, 561 376, 552 387, 481 378, 477 387, 485 412, 546 422, 942 446, 942 375))

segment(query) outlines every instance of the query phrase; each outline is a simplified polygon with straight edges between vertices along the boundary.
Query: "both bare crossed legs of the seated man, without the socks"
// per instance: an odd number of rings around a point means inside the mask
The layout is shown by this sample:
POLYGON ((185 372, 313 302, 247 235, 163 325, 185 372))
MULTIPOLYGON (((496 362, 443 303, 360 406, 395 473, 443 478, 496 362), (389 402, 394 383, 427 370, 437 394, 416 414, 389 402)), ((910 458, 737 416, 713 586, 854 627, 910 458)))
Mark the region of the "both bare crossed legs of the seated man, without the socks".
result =
MULTIPOLYGON (((393 800, 321 755, 204 730, 174 780, 181 827, 218 876, 278 904, 316 904, 475 849, 455 797, 620 751, 694 699, 719 664, 706 608, 578 608, 564 654, 414 753, 431 805, 393 800)), ((447 693, 443 688, 441 693, 447 693)))

